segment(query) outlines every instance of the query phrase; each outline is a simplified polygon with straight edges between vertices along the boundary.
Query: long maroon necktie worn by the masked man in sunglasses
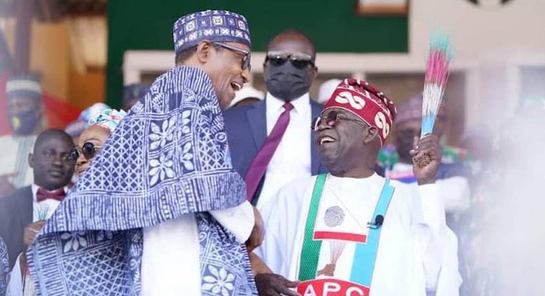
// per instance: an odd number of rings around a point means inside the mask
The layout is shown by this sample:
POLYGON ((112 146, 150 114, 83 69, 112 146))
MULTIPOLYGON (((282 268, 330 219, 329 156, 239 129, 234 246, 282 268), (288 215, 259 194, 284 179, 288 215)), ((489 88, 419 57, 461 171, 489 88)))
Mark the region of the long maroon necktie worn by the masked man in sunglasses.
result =
POLYGON ((270 160, 273 158, 273 155, 275 155, 275 151, 282 140, 282 136, 284 136, 284 133, 288 128, 288 123, 290 123, 290 111, 293 109, 293 105, 288 102, 284 103, 283 107, 284 112, 280 114, 275 127, 273 127, 273 130, 270 131, 265 142, 261 148, 259 148, 257 156, 252 160, 250 169, 248 169, 246 178, 244 178, 246 181, 246 193, 248 194, 248 201, 250 202, 255 195, 259 181, 261 181, 261 178, 263 178, 267 171, 270 160))

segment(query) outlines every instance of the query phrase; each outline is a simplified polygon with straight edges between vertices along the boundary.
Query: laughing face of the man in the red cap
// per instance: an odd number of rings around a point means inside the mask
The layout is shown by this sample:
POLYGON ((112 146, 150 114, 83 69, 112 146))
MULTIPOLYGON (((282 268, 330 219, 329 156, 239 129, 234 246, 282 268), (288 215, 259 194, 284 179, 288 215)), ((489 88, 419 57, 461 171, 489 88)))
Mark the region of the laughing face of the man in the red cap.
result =
POLYGON ((315 143, 322 162, 332 173, 343 173, 361 165, 368 167, 369 160, 376 159, 377 145, 380 147, 377 128, 335 107, 326 109, 322 118, 328 118, 332 112, 338 114, 337 120, 321 120, 316 129, 315 143))

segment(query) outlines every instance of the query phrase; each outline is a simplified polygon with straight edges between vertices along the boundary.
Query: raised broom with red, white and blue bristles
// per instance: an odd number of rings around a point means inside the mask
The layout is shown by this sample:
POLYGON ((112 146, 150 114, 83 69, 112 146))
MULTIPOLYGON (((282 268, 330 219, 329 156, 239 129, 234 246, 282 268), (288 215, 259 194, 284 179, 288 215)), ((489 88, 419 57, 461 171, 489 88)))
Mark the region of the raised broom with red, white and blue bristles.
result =
MULTIPOLYGON (((430 52, 426 64, 426 76, 424 78, 424 91, 422 92, 422 128, 420 138, 433 132, 433 125, 439 106, 445 93, 448 81, 448 65, 453 52, 450 47, 450 38, 446 34, 436 32, 430 38, 430 52)), ((419 163, 424 167, 430 162, 425 157, 419 163)))

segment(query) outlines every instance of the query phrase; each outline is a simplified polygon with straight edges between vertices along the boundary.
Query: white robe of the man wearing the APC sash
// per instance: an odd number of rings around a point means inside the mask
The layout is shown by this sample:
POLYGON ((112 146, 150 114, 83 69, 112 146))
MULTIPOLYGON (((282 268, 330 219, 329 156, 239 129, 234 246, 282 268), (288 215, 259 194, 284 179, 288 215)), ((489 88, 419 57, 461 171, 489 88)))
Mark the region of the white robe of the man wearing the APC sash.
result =
MULTIPOLYGON (((314 176, 288 184, 279 191, 274 202, 261 210, 266 235, 257 255, 275 273, 291 280, 298 279, 301 246, 315 180, 314 176)), ((390 181, 390 185, 395 187, 395 192, 381 226, 370 295, 422 296, 426 295, 426 290, 447 290, 439 289, 439 283, 445 287, 456 287, 441 295, 457 295, 457 271, 445 271, 442 275, 444 258, 456 258, 456 242, 445 224, 444 204, 438 196, 437 186, 428 184, 415 188, 397 181, 390 181)), ((328 175, 315 231, 327 230, 324 222, 326 209, 340 207, 344 212, 344 222, 330 231, 366 235, 366 225, 373 218, 383 186, 384 178, 376 174, 369 178, 328 175)), ((317 270, 335 263, 334 277, 348 280, 356 243, 344 242, 342 247, 339 242, 324 240, 317 270)), ((320 275, 318 278, 326 276, 320 275)))

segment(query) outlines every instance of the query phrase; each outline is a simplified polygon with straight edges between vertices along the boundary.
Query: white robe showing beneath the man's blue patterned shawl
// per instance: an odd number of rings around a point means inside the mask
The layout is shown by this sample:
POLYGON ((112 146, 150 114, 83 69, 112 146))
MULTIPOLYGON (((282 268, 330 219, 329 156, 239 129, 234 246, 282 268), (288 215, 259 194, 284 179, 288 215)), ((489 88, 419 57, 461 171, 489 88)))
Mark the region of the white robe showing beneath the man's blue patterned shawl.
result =
MULTIPOLYGON (((250 237, 255 222, 250 202, 210 215, 242 244, 250 237)), ((144 228, 142 295, 201 295, 200 249, 192 213, 144 228)))

